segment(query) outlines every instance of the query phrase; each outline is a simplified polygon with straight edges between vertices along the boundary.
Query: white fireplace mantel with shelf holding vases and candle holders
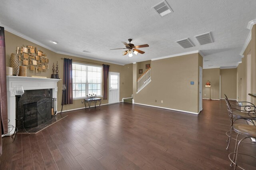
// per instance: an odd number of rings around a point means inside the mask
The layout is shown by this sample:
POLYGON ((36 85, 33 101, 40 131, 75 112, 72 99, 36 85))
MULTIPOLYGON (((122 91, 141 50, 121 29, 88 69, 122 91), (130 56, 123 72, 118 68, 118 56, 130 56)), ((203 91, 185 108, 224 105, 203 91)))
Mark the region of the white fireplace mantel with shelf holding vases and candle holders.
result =
MULTIPOLYGON (((16 126, 16 99, 12 95, 12 90, 16 85, 22 85, 25 90, 37 90, 37 89, 52 89, 52 98, 57 99, 57 82, 60 79, 48 79, 48 78, 37 78, 37 77, 20 77, 20 76, 6 76, 7 85, 7 102, 8 102, 8 119, 10 122, 8 125, 16 126)), ((57 106, 56 106, 57 110, 57 106)), ((10 128, 10 134, 14 133, 14 129, 10 128)))

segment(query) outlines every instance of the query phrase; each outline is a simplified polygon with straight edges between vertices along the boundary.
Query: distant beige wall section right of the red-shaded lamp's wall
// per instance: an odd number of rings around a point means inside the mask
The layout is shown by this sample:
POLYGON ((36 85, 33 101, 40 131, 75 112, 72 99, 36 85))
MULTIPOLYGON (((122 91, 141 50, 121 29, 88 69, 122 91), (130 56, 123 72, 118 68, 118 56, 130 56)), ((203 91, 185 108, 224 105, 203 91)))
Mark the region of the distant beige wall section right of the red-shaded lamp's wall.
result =
POLYGON ((220 69, 220 98, 236 99, 237 69, 220 69))

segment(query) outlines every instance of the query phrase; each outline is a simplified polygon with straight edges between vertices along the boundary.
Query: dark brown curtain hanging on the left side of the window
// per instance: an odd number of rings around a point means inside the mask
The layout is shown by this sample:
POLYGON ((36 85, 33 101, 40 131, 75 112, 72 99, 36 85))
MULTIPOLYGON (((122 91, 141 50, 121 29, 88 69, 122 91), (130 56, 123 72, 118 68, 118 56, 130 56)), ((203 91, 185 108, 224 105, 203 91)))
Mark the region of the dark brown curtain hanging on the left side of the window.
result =
POLYGON ((64 105, 73 104, 72 59, 64 58, 63 84, 66 85, 64 105))

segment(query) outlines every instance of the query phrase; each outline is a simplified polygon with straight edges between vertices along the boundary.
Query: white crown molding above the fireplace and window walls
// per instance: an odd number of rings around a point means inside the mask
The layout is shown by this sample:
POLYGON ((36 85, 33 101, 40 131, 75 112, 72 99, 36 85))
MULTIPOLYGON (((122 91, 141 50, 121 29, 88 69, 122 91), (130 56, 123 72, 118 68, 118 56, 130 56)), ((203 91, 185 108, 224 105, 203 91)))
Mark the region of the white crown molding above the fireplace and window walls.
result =
POLYGON ((100 60, 100 59, 96 60, 93 57, 86 57, 84 55, 77 55, 77 54, 73 54, 73 53, 66 53, 66 52, 62 52, 62 51, 56 51, 55 49, 52 49, 51 47, 48 47, 47 45, 44 45, 43 43, 40 43, 40 42, 38 42, 38 41, 36 41, 36 40, 34 40, 34 39, 32 39, 32 38, 30 38, 30 37, 20 33, 20 32, 18 32, 18 31, 16 31, 16 30, 13 30, 12 28, 10 28, 10 27, 8 27, 8 26, 6 26, 4 24, 1 24, 1 22, 0 22, 0 26, 4 27, 4 30, 6 30, 6 31, 8 31, 8 32, 10 32, 10 33, 12 33, 12 34, 14 34, 16 36, 19 36, 20 38, 28 40, 28 41, 30 41, 32 43, 37 44, 37 45, 40 45, 40 46, 42 46, 42 47, 44 47, 46 49, 49 49, 49 50, 51 50, 51 51, 53 51, 55 53, 58 53, 58 54, 70 55, 70 56, 73 56, 73 57, 80 57, 80 58, 85 58, 85 59, 92 59, 92 60, 95 60, 95 61, 102 61, 102 62, 117 64, 117 65, 124 65, 122 63, 111 62, 111 61, 108 61, 108 60, 100 60))

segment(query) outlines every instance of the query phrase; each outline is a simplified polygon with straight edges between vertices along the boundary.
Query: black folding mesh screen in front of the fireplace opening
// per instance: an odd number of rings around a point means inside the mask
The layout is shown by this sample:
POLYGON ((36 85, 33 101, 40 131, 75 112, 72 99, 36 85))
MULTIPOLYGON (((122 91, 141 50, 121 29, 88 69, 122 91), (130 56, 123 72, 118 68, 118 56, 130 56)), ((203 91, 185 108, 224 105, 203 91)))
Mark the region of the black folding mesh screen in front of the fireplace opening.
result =
POLYGON ((51 99, 24 105, 24 127, 37 127, 51 120, 51 99))

